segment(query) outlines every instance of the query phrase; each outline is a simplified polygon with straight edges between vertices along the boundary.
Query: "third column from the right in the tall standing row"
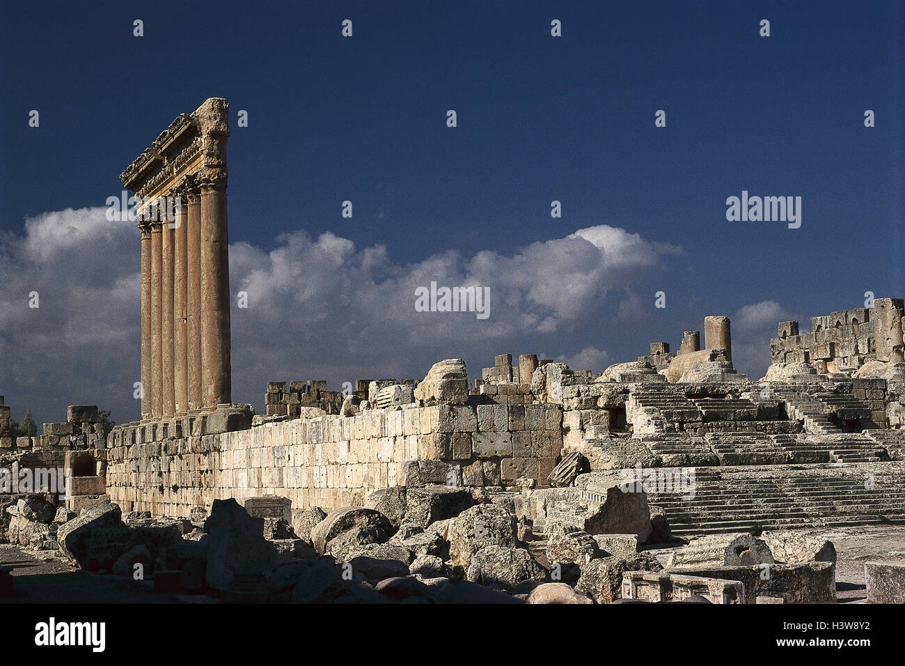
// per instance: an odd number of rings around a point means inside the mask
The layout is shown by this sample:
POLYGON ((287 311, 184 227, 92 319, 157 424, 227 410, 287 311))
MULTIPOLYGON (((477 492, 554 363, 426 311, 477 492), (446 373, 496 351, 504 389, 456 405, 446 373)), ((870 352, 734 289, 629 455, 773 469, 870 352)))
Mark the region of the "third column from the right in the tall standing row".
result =
POLYGON ((188 410, 188 319, 186 314, 186 287, 188 254, 188 208, 186 193, 174 192, 176 199, 176 221, 173 229, 173 381, 174 406, 177 414, 188 410))

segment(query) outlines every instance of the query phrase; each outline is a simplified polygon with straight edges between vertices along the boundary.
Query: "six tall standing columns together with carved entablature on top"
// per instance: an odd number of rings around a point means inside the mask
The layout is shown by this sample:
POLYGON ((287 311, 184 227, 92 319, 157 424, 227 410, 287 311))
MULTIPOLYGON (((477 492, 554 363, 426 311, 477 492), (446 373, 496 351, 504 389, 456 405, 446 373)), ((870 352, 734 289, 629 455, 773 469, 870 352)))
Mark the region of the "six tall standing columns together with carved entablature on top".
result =
POLYGON ((138 199, 146 420, 231 401, 228 112, 210 98, 181 114, 120 175, 138 199))

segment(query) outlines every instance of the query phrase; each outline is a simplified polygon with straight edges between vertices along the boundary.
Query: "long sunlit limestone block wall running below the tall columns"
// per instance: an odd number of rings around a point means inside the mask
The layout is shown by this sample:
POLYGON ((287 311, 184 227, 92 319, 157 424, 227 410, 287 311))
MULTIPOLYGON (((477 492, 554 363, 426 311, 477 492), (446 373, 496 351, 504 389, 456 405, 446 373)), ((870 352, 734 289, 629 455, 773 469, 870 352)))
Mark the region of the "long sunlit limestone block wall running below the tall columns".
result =
POLYGON ((395 485, 543 485, 561 427, 558 405, 365 410, 162 441, 119 427, 107 440, 107 492, 124 511, 187 516, 227 497, 273 494, 330 510, 395 485))

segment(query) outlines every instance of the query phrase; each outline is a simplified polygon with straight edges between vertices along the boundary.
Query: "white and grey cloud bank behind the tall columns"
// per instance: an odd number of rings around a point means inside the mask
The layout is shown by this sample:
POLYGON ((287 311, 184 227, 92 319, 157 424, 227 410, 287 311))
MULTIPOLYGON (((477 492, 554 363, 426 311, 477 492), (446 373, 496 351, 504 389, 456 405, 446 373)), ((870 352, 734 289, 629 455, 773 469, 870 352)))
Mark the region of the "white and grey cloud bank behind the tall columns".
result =
MULTIPOLYGON (((61 420, 77 403, 138 418, 139 235, 105 213, 44 213, 26 220, 24 235, 0 237, 0 391, 15 418, 31 407, 39 419, 61 420), (32 291, 37 310, 28 308, 32 291)), ((511 255, 450 249, 409 264, 395 263, 386 246, 358 248, 332 233, 291 232, 270 251, 233 243, 231 290, 248 294, 247 309, 233 298, 233 400, 260 407, 269 380, 327 379, 338 388, 357 378, 419 379, 451 356, 471 355, 477 376, 492 349, 575 327, 608 292, 679 253, 605 225, 511 255), (490 317, 415 312, 416 287, 432 281, 489 287, 490 317)), ((595 347, 569 357, 577 369, 605 361, 595 347)))

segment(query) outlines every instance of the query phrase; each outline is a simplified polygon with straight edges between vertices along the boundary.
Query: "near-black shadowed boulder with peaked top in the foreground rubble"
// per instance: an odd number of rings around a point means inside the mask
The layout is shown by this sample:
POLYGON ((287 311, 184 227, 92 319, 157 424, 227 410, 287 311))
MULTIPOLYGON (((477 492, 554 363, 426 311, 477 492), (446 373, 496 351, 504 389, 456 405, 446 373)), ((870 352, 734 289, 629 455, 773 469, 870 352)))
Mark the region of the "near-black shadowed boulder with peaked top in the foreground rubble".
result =
POLYGON ((205 582, 225 590, 233 574, 269 574, 276 559, 273 546, 263 537, 263 519, 252 518, 234 499, 214 499, 205 522, 208 534, 205 582))

